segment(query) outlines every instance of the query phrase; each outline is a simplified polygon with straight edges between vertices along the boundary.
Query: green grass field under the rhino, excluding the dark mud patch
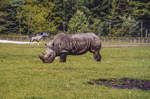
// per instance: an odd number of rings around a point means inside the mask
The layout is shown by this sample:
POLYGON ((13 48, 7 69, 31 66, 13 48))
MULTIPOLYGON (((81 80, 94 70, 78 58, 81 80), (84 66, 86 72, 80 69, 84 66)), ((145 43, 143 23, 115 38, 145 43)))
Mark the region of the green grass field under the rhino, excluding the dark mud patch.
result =
POLYGON ((86 53, 43 64, 37 55, 45 48, 35 46, 0 44, 0 99, 150 99, 150 91, 87 84, 99 78, 150 80, 150 47, 102 48, 101 62, 86 53))

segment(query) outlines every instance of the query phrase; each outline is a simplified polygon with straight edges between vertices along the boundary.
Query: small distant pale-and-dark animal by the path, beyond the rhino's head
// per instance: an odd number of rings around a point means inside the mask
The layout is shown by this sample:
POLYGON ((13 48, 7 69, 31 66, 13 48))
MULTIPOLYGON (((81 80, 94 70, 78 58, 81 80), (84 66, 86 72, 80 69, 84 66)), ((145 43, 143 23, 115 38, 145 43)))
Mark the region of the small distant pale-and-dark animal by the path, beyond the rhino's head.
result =
POLYGON ((36 34, 30 34, 29 36, 29 39, 30 39, 30 42, 38 42, 38 45, 39 45, 39 42, 43 39, 45 40, 46 38, 50 37, 50 34, 49 33, 46 33, 46 32, 38 32, 36 34))

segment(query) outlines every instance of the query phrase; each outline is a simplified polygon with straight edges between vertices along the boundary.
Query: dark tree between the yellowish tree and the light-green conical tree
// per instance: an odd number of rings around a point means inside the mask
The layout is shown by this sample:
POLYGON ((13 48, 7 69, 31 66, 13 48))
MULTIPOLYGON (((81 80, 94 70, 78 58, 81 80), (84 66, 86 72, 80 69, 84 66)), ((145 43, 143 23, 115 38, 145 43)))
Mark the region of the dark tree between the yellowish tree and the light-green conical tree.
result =
POLYGON ((54 11, 56 16, 60 18, 59 29, 65 32, 68 30, 69 20, 77 11, 77 0, 54 0, 54 3, 54 11))

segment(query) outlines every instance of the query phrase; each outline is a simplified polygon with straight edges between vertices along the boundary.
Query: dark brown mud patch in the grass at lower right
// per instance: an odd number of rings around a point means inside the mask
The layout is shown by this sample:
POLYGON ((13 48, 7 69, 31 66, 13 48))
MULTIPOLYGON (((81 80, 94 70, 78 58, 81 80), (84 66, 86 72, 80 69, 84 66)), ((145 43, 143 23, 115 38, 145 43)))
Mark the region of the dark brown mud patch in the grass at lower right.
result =
POLYGON ((104 85, 112 88, 118 89, 140 89, 140 90, 150 90, 150 81, 148 80, 137 80, 130 78, 122 79, 97 79, 89 81, 90 85, 104 85))

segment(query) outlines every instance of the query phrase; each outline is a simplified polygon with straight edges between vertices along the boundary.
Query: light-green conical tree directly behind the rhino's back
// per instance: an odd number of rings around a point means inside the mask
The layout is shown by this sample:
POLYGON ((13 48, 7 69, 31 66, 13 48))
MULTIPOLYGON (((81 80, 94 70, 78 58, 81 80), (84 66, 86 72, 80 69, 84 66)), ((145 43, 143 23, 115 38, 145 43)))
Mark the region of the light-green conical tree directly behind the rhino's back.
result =
POLYGON ((76 14, 69 21, 69 33, 86 32, 88 27, 88 21, 86 16, 80 10, 77 10, 76 14))

